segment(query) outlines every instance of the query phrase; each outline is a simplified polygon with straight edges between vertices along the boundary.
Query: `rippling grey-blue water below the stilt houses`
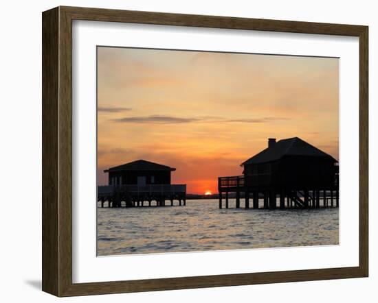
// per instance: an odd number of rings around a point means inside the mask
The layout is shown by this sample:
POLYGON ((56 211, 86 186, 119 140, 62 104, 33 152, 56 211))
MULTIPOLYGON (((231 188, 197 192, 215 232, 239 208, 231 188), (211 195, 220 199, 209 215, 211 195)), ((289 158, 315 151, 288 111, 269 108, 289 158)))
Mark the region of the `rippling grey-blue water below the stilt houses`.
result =
POLYGON ((217 200, 188 200, 186 206, 173 207, 98 208, 99 256, 338 243, 339 208, 226 210, 219 209, 217 200))

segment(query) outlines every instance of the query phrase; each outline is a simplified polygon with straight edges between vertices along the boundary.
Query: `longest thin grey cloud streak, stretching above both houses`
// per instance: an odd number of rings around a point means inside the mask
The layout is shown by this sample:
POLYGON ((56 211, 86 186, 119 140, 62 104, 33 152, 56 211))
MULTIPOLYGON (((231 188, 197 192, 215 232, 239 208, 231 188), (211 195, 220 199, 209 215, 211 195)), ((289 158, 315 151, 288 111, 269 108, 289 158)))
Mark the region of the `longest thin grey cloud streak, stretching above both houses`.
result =
POLYGON ((146 116, 146 117, 124 117, 119 119, 111 119, 113 122, 120 123, 161 123, 161 124, 175 124, 175 123, 191 123, 191 122, 217 122, 217 123, 269 123, 274 121, 284 121, 289 118, 284 117, 263 117, 257 119, 223 119, 219 117, 173 117, 173 116, 146 116))

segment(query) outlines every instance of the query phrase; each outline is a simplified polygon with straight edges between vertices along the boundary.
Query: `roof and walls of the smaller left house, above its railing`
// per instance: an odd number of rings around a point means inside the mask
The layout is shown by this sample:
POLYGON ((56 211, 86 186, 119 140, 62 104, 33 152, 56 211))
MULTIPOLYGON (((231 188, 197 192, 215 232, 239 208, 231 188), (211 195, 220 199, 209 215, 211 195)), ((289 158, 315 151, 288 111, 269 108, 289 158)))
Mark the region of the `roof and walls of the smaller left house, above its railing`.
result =
POLYGON ((170 184, 170 172, 175 171, 173 167, 157 164, 146 160, 136 160, 110 169, 109 185, 118 184, 170 184))

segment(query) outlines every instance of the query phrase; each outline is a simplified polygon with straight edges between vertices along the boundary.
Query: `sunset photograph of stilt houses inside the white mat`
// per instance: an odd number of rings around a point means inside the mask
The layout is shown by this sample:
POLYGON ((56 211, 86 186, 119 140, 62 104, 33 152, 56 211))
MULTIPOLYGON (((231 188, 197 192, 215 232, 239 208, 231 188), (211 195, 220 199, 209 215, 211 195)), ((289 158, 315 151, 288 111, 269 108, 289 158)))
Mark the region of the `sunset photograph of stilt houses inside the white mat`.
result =
POLYGON ((97 255, 339 244, 340 58, 97 47, 97 255))

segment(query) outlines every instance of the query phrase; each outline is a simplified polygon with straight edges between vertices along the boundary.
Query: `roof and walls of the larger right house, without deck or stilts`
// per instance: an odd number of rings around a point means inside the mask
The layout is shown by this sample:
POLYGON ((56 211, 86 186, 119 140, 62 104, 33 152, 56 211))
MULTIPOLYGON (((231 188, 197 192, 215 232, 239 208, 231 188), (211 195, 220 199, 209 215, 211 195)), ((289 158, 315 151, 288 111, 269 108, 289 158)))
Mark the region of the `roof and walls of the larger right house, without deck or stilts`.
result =
POLYGON ((241 164, 248 184, 278 189, 331 188, 336 165, 335 158, 298 137, 269 138, 266 149, 241 164))

